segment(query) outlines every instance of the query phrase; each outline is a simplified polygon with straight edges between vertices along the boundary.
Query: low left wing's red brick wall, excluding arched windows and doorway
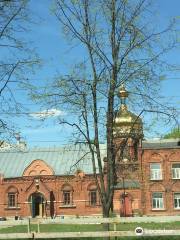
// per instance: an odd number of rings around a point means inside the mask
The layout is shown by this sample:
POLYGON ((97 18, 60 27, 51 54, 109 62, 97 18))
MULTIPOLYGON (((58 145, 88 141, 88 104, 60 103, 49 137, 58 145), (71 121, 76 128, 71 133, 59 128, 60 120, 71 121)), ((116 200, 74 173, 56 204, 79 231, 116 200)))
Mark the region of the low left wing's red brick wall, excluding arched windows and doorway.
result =
MULTIPOLYGON (((101 214, 101 207, 89 206, 89 185, 94 184, 92 176, 85 176, 83 179, 77 176, 40 176, 39 187, 37 189, 34 177, 22 177, 14 179, 4 179, 0 184, 0 216, 31 216, 28 199, 34 192, 44 195, 47 203, 50 200, 50 191, 54 193, 54 213, 55 215, 90 215, 101 214), (73 205, 63 206, 62 187, 64 183, 72 187, 73 205), (8 208, 7 193, 10 187, 15 187, 18 191, 18 208, 8 208)), ((49 207, 46 207, 47 216, 50 215, 49 207)))

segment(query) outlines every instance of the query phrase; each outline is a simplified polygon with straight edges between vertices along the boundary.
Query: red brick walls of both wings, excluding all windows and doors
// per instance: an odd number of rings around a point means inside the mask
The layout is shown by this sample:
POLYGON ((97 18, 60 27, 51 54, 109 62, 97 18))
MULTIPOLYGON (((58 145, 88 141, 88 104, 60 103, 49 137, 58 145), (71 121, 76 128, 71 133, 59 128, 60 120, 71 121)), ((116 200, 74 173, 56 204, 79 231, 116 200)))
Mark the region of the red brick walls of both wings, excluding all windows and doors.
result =
MULTIPOLYGON (((141 155, 141 149, 139 151, 141 155)), ((180 179, 172 179, 172 163, 180 162, 179 149, 145 149, 142 158, 139 156, 139 170, 133 178, 139 178, 142 189, 126 189, 126 194, 132 200, 132 213, 143 212, 145 215, 179 215, 180 210, 174 209, 174 193, 180 192, 180 179), (162 180, 150 180, 150 163, 161 163, 162 180), (152 209, 152 193, 161 192, 164 198, 164 209, 152 209)), ((46 169, 48 171, 48 168, 46 169)), ((28 169, 25 173, 28 175, 28 169)), ((30 172, 29 172, 30 173, 30 172)), ((25 175, 26 175, 25 174, 25 175)), ((95 187, 92 175, 77 174, 74 176, 54 176, 50 169, 47 176, 22 176, 20 178, 5 178, 0 176, 0 216, 31 216, 29 197, 40 192, 46 200, 46 214, 50 216, 50 192, 54 194, 55 215, 91 215, 101 214, 100 205, 89 206, 89 189, 95 187), (35 181, 39 178, 38 186, 35 181), (62 188, 64 184, 71 186, 73 202, 71 206, 63 206, 62 188), (8 208, 8 191, 17 191, 18 207, 8 208)), ((114 211, 120 214, 122 208, 123 190, 115 190, 114 211)))

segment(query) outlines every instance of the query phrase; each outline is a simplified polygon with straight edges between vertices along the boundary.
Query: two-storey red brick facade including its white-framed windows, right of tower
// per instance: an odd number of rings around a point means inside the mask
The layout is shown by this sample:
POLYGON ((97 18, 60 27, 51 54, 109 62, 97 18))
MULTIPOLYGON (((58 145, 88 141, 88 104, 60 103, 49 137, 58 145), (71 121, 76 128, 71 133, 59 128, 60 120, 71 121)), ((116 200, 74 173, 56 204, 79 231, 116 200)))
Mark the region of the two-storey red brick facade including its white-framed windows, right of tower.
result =
POLYGON ((143 213, 146 215, 179 215, 180 148, 145 149, 142 172, 143 213), (156 169, 151 169, 153 166, 156 169), (153 194, 157 195, 156 193, 159 193, 159 197, 155 196, 153 203, 153 194))

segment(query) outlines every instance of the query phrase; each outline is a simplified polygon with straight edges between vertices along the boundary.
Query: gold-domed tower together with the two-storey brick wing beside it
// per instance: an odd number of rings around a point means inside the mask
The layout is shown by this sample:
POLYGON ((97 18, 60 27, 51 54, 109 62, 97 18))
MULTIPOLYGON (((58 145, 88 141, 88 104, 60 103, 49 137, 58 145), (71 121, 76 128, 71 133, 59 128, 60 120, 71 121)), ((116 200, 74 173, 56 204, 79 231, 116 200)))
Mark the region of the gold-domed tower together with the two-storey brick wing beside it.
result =
POLYGON ((114 123, 117 184, 114 211, 123 216, 180 213, 180 139, 143 141, 143 123, 128 111, 128 92, 114 123))

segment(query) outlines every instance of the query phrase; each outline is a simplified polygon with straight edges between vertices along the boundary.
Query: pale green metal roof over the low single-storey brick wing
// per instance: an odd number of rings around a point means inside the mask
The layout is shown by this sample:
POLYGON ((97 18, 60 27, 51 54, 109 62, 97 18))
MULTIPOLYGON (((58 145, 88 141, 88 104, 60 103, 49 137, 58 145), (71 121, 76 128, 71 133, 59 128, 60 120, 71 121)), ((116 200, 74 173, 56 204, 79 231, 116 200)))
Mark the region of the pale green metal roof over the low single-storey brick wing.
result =
MULTIPOLYGON (((106 154, 106 147, 101 146, 102 159, 106 154)), ((43 160, 53 170, 55 175, 73 174, 77 169, 91 174, 91 154, 87 144, 75 144, 64 147, 34 147, 32 149, 10 149, 0 151, 0 173, 5 178, 21 177, 25 168, 34 160, 43 160), (78 162, 78 163, 77 163, 78 162), (76 164, 77 163, 77 164, 76 164), (76 164, 75 166, 73 166, 76 164)))

